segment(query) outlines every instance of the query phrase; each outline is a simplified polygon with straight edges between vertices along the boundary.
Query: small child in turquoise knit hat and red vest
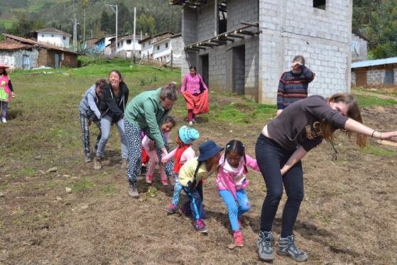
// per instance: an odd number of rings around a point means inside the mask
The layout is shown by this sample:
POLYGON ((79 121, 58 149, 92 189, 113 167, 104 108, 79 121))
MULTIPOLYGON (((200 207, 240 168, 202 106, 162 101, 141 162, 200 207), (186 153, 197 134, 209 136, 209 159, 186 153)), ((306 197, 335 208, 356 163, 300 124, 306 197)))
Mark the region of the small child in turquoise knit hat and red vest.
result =
POLYGON ((180 127, 178 134, 175 137, 175 142, 178 147, 175 148, 167 156, 164 156, 162 163, 167 163, 170 158, 174 158, 174 176, 175 176, 175 186, 173 194, 173 203, 167 207, 166 212, 173 214, 176 212, 179 202, 180 191, 182 190, 182 185, 179 183, 179 171, 183 164, 195 157, 195 150, 192 148, 192 141, 199 139, 200 134, 196 129, 190 128, 188 126, 180 127))

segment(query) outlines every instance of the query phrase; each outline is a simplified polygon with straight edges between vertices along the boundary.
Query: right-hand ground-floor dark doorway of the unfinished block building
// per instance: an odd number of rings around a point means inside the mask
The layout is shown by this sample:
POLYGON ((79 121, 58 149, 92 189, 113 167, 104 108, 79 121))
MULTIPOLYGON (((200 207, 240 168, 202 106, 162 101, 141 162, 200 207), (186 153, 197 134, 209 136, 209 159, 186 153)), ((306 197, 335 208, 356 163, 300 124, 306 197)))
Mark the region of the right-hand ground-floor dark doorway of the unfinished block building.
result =
POLYGON ((245 45, 233 48, 233 93, 245 93, 245 45))

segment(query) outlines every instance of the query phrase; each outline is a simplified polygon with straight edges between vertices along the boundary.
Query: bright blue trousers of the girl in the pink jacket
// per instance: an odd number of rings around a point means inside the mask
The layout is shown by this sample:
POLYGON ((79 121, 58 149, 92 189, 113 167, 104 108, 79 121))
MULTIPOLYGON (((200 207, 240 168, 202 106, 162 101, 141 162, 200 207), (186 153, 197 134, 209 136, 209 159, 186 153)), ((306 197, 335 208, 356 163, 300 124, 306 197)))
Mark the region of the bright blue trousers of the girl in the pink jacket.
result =
POLYGON ((229 190, 219 190, 219 195, 221 195, 224 204, 227 206, 232 230, 239 231, 240 227, 237 217, 243 215, 244 212, 248 212, 251 208, 245 190, 236 190, 236 200, 234 200, 233 194, 229 190))

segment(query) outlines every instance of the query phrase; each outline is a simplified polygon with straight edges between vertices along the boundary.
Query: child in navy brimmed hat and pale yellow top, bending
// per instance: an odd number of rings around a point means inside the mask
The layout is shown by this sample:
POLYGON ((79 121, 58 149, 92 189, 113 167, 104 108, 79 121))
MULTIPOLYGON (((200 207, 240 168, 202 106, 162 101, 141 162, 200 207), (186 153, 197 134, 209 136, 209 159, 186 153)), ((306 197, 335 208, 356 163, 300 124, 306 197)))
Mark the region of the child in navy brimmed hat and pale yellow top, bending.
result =
POLYGON ((193 227, 197 232, 206 233, 208 230, 202 221, 205 218, 202 207, 202 180, 217 171, 222 147, 214 141, 206 141, 199 146, 200 156, 187 161, 180 168, 179 182, 185 191, 188 201, 180 208, 183 217, 192 217, 193 227))

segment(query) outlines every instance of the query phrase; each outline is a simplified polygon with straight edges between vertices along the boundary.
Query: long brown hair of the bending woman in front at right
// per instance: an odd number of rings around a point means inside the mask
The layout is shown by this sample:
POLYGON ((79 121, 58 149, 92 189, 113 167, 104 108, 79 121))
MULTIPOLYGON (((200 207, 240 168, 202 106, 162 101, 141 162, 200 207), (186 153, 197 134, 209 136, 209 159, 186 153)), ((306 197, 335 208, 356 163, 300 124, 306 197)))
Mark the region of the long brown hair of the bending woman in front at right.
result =
MULTIPOLYGON (((362 124, 362 117, 361 117, 359 105, 357 104, 352 94, 348 94, 348 93, 333 94, 328 99, 328 103, 330 102, 335 102, 335 103, 344 102, 345 104, 347 104, 347 117, 354 119, 355 121, 358 121, 359 123, 362 124)), ((332 142, 335 139, 334 133, 336 131, 336 128, 332 126, 332 124, 330 124, 328 121, 320 122, 320 131, 322 134, 322 138, 325 139, 325 141, 332 142)), ((349 136, 349 138, 352 136, 352 131, 345 131, 345 132, 347 136, 349 136)), ((362 148, 366 146, 366 143, 367 140, 364 134, 356 135, 356 144, 358 146, 362 148)))

